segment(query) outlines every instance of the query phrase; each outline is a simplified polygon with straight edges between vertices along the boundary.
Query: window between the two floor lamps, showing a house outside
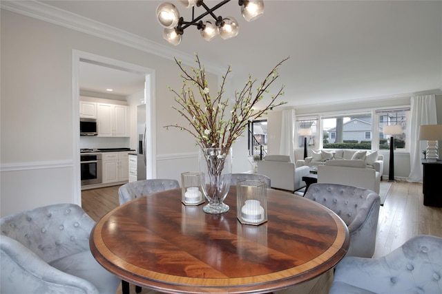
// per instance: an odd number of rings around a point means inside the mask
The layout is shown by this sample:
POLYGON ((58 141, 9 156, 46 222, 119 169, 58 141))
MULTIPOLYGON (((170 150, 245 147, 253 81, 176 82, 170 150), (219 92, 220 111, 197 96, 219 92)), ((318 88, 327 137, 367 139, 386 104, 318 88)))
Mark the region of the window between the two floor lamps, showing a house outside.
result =
POLYGON ((372 149, 372 112, 323 116, 323 148, 372 149))

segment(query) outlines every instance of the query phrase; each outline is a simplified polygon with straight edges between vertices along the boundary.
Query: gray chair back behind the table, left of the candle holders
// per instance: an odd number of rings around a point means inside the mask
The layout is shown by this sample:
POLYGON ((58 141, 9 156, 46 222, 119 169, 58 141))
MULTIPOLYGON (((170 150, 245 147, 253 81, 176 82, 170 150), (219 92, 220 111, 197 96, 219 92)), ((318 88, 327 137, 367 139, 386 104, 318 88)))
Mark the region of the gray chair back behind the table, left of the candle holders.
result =
POLYGON ((177 180, 149 179, 128 182, 118 189, 119 204, 124 204, 140 196, 180 188, 177 180))

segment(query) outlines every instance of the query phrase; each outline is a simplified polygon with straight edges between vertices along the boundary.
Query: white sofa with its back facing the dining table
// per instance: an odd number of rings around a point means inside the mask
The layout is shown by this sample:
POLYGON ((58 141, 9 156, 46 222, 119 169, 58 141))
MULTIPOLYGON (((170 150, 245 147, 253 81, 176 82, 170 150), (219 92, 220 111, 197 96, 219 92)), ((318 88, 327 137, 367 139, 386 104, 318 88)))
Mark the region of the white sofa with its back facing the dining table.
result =
POLYGON ((368 168, 364 160, 328 160, 318 165, 318 182, 349 185, 379 193, 381 174, 368 168))

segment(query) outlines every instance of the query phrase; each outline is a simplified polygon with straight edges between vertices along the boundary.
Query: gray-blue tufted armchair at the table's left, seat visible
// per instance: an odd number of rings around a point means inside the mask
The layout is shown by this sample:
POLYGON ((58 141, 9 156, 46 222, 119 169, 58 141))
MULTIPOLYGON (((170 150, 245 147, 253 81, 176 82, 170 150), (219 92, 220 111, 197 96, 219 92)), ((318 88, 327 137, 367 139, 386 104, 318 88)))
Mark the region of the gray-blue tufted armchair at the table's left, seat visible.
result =
POLYGON ((0 292, 115 294, 121 280, 90 253, 94 225, 75 204, 1 218, 0 292))

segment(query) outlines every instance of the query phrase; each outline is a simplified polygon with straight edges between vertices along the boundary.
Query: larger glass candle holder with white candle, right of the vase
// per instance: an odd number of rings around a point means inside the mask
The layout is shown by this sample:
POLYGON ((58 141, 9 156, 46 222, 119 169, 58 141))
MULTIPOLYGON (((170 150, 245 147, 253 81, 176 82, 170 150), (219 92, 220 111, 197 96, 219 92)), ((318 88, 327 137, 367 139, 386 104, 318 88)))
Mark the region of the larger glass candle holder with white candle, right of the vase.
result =
POLYGON ((267 185, 259 180, 236 184, 237 218, 242 224, 267 222, 267 185))

